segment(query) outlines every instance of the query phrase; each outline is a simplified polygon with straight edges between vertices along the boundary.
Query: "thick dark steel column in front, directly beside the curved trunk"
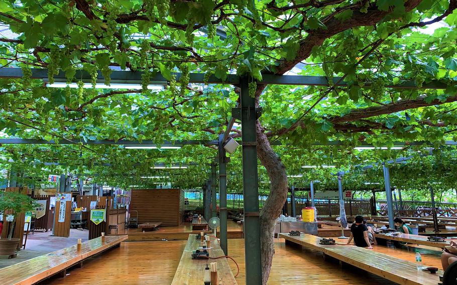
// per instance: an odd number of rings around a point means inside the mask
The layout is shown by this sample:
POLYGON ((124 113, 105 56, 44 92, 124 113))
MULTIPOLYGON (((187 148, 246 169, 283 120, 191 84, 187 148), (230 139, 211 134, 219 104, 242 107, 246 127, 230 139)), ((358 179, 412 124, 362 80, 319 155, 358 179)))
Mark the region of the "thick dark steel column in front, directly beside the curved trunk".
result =
POLYGON ((262 284, 260 213, 257 175, 256 103, 249 95, 249 78, 240 78, 243 144, 243 197, 245 211, 246 284, 262 284))

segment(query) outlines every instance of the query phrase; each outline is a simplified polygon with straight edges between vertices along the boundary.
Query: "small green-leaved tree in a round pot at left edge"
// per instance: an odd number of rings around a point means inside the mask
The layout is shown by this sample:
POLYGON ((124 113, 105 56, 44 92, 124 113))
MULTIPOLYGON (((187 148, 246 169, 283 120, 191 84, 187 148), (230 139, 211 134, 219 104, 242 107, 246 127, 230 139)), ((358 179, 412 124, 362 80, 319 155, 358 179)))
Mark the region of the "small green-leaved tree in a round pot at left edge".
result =
POLYGON ((33 211, 39 206, 40 204, 27 195, 17 192, 0 192, 0 212, 3 213, 4 222, 8 215, 13 216, 9 229, 3 229, 4 231, 9 230, 8 238, 0 237, 0 255, 13 255, 16 252, 20 242, 19 238, 13 238, 17 215, 33 211))

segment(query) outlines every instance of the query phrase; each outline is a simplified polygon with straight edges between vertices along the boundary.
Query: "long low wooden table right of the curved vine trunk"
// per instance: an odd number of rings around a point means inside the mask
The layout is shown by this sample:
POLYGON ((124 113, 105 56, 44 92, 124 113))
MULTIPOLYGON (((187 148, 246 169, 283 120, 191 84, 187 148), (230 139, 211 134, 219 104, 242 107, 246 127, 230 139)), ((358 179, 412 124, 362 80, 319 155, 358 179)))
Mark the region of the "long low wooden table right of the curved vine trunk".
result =
POLYGON ((439 282, 439 274, 418 271, 414 262, 392 257, 367 248, 344 245, 341 243, 335 245, 322 245, 319 244, 320 237, 309 234, 289 236, 288 233, 280 233, 279 237, 286 239, 288 242, 321 251, 328 256, 398 284, 437 285, 439 282))

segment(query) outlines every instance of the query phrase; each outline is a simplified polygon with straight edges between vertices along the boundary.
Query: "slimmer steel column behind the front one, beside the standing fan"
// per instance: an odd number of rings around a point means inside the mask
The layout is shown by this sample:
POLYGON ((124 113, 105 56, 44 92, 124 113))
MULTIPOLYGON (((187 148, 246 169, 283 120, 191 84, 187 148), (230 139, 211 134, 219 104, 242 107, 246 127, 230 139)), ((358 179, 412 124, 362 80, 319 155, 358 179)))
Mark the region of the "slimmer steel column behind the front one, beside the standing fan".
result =
POLYGON ((227 173, 226 157, 223 148, 224 134, 219 134, 219 218, 220 248, 227 255, 227 173))

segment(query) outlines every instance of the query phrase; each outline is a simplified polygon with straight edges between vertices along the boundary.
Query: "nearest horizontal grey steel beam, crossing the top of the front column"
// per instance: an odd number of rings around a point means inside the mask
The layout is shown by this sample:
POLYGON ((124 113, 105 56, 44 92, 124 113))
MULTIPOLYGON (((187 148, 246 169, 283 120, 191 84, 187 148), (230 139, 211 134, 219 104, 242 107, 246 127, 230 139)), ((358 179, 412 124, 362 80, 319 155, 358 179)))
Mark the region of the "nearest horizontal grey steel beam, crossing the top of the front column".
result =
MULTIPOLYGON (((122 83, 122 84, 141 84, 141 71, 119 71, 113 70, 111 72, 111 83, 122 83)), ((181 73, 172 73, 175 76, 176 80, 181 78, 181 73)), ((21 78, 22 70, 20 68, 0 68, 0 78, 21 78)), ((43 79, 44 81, 48 80, 48 70, 47 69, 36 69, 32 68, 32 78, 43 79)), ((81 80, 83 82, 90 82, 91 76, 85 70, 76 70, 74 76, 75 80, 81 80)), ((64 71, 60 71, 59 74, 54 76, 55 82, 66 82, 67 78, 64 71)), ((333 85, 335 86, 347 86, 348 83, 345 81, 340 82, 340 77, 333 77, 333 85), (337 83, 337 84, 336 84, 337 83)), ((162 76, 162 74, 157 73, 154 76, 151 76, 151 84, 166 84, 168 80, 162 76)), ((101 72, 98 71, 97 82, 104 83, 105 79, 101 75, 101 72)), ((190 83, 211 83, 211 84, 234 84, 239 85, 241 78, 235 74, 228 74, 225 80, 221 80, 211 74, 209 80, 206 82, 204 80, 204 73, 191 73, 190 74, 190 83)), ((304 75, 274 75, 274 74, 262 74, 262 80, 258 82, 259 84, 275 84, 275 85, 302 85, 302 86, 330 86, 328 83, 328 78, 325 76, 304 76, 304 75)), ((438 80, 432 80, 429 83, 423 84, 421 88, 416 86, 414 80, 405 81, 401 84, 387 83, 387 88, 398 88, 398 89, 446 89, 449 85, 455 85, 456 83, 442 83, 438 80)), ((365 83, 365 87, 371 86, 371 83, 365 83)))

